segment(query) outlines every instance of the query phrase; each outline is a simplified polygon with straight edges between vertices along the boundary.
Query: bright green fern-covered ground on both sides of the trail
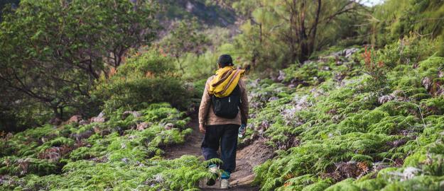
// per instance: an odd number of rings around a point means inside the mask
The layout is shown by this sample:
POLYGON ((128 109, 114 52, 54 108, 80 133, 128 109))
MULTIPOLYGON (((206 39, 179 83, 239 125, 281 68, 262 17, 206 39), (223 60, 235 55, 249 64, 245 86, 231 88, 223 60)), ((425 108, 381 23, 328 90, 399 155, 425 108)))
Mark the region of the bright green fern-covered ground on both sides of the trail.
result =
MULTIPOLYGON (((249 80, 252 119, 241 146, 260 141, 277 149, 254 168, 262 190, 443 188, 444 59, 400 64, 375 93, 374 79, 363 76, 363 51, 353 47, 290 66, 276 79, 281 83, 249 80)), ((8 135, 1 141, 1 173, 8 174, 2 187, 195 187, 208 175, 205 163, 195 156, 161 160, 163 148, 190 134, 184 115, 168 104, 150 105, 8 135)))

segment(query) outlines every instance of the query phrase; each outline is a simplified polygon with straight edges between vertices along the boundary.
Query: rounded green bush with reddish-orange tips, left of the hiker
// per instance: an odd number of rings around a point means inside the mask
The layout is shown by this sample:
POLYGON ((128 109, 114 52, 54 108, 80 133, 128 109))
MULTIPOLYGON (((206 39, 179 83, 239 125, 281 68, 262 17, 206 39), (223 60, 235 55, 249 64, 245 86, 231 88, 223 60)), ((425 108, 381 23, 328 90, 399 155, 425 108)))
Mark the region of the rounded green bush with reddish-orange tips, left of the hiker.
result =
POLYGON ((93 93, 104 100, 107 112, 121 107, 139 110, 144 103, 156 102, 188 106, 190 93, 175 74, 173 60, 156 50, 134 54, 110 76, 100 79, 93 93))

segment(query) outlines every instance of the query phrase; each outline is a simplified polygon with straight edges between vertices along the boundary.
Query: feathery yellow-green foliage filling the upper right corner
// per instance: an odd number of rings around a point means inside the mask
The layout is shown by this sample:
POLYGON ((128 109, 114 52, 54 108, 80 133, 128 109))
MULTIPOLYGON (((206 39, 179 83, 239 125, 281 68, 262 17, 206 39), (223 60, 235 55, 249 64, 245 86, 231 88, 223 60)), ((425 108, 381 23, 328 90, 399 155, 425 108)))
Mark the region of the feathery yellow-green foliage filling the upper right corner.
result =
POLYGON ((437 0, 389 0, 376 6, 370 22, 378 46, 411 33, 431 39, 443 36, 444 3, 437 0))

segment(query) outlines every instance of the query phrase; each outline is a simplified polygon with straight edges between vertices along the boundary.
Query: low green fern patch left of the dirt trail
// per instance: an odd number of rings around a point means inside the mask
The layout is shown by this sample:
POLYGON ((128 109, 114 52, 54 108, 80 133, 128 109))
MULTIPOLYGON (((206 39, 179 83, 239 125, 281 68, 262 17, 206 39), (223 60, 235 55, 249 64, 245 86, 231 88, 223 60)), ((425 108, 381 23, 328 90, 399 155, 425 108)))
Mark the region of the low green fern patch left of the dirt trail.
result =
POLYGON ((163 160, 161 148, 190 134, 183 112, 168 103, 141 116, 107 115, 104 123, 45 125, 1 140, 1 190, 185 190, 209 177, 195 156, 163 160), (145 128, 139 128, 143 123, 145 128), (164 127, 172 123, 173 128, 164 127), (138 128, 136 128, 136 126, 138 128))

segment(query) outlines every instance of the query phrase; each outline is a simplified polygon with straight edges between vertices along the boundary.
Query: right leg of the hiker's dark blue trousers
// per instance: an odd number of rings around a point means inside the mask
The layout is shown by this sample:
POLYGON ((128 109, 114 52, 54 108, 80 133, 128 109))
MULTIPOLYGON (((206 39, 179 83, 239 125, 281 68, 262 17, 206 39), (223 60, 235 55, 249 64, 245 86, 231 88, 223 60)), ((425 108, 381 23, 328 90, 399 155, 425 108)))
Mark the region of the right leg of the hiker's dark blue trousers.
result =
POLYGON ((237 134, 239 125, 224 125, 220 139, 222 170, 232 173, 236 168, 237 134))

